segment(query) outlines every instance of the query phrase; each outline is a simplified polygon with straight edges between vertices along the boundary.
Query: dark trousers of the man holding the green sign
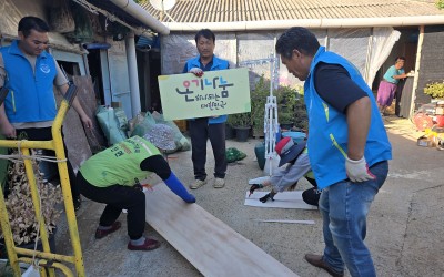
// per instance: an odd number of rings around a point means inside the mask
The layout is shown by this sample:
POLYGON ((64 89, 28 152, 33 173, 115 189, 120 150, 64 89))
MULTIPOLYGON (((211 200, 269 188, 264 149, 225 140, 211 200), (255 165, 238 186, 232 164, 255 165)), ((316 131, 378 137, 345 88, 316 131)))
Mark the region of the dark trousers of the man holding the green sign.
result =
POLYGON ((226 172, 225 123, 209 124, 208 117, 189 121, 191 160, 194 178, 205 179, 206 141, 210 138, 214 155, 214 177, 224 178, 226 172))

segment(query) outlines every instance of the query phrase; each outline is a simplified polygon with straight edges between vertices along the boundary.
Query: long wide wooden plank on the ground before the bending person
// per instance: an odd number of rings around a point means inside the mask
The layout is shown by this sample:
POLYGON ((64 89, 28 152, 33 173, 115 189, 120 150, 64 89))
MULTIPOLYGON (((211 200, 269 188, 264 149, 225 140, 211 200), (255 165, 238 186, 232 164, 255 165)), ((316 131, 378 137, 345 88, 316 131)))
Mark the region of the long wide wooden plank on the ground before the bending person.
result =
POLYGON ((163 183, 147 192, 145 218, 204 276, 297 276, 198 204, 163 183))

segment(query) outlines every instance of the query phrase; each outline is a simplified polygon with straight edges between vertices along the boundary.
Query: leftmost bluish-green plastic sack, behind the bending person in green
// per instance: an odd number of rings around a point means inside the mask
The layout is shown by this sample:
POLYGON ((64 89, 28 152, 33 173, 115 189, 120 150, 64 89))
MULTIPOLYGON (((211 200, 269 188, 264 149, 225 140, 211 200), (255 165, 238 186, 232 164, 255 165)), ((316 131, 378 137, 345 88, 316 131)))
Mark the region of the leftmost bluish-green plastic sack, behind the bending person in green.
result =
POLYGON ((105 107, 100 105, 98 106, 95 116, 99 121, 100 127, 103 131, 103 134, 107 136, 109 145, 114 145, 115 143, 128 138, 128 124, 122 124, 122 122, 119 121, 113 107, 105 107))

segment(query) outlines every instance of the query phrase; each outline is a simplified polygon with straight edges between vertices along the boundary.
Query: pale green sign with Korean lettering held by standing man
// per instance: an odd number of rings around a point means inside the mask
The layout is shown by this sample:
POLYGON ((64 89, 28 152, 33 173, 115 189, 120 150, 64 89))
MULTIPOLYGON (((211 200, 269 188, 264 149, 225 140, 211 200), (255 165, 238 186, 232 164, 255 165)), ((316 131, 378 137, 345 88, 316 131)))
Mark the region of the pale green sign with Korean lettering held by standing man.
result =
POLYGON ((205 71, 160 75, 160 98, 165 120, 184 120, 251 111, 249 70, 205 71))

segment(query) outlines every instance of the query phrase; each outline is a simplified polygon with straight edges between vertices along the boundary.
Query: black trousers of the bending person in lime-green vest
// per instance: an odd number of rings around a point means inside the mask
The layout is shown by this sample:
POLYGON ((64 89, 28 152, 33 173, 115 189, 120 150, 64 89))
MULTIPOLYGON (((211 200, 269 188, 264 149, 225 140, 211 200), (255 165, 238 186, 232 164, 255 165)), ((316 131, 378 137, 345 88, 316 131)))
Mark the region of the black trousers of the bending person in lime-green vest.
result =
POLYGON ((77 174, 77 182, 84 197, 107 204, 100 216, 101 226, 111 226, 125 208, 128 209, 128 235, 131 239, 142 237, 145 228, 145 194, 141 189, 121 185, 97 187, 84 179, 80 172, 77 174))

